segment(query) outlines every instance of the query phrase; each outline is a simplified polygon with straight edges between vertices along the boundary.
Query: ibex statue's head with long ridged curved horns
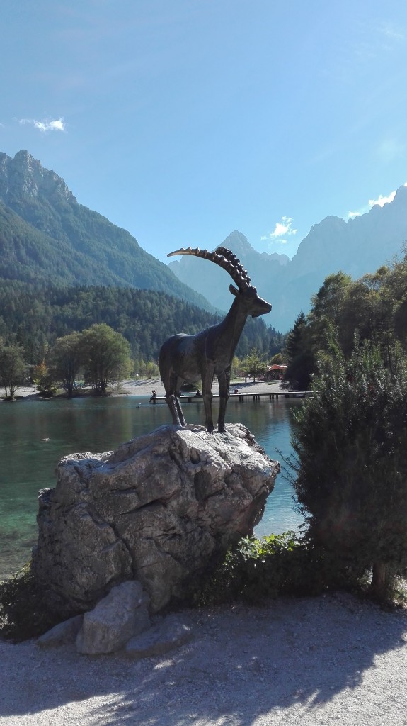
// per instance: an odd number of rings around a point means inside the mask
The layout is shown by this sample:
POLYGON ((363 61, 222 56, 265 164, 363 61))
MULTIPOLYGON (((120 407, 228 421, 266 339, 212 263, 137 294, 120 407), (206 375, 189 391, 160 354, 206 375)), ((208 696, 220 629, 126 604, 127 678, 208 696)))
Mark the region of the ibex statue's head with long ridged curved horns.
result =
POLYGON ((238 296, 240 301, 245 304, 247 314, 251 315, 251 317, 265 315, 272 309, 270 303, 267 303, 263 300, 263 298, 260 298, 257 294, 256 287, 251 285, 251 278, 248 277, 247 270, 243 269, 243 265, 240 263, 240 260, 226 247, 218 247, 214 252, 200 250, 198 247, 195 249, 190 247, 187 249, 182 248, 175 252, 170 252, 167 257, 175 255, 193 255, 195 257, 203 257, 229 272, 233 282, 235 282, 235 285, 238 286, 238 289, 236 289, 236 287, 230 285, 229 290, 232 295, 238 296))

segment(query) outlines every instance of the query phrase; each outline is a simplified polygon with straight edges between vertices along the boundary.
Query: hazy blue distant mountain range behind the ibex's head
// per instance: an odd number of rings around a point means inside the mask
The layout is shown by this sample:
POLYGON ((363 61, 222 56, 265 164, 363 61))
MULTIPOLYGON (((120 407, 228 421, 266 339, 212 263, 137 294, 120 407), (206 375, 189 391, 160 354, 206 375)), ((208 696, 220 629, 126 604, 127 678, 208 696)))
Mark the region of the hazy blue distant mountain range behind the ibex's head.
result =
MULTIPOLYGON (((241 232, 232 232, 222 242, 240 258, 261 297, 272 303, 270 323, 282 333, 293 327, 298 314, 307 313, 311 295, 327 275, 342 270, 353 279, 375 272, 400 255, 407 240, 407 187, 400 187, 391 203, 374 205, 361 216, 345 222, 328 216, 311 227, 297 254, 269 255, 253 249, 241 232)), ((205 245, 203 244, 202 247, 205 245)), ((208 295, 219 309, 230 306, 227 274, 198 258, 182 256, 169 266, 180 280, 208 295)))

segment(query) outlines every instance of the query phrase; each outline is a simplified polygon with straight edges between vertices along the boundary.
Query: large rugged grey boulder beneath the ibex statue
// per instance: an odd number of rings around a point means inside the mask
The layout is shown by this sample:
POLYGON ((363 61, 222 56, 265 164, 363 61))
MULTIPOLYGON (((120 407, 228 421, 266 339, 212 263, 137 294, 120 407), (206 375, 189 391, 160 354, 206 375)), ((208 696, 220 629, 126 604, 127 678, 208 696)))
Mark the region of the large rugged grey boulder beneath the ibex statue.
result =
POLYGON ((116 452, 64 457, 39 497, 35 578, 64 617, 131 579, 159 611, 253 531, 278 470, 241 424, 161 426, 116 452))

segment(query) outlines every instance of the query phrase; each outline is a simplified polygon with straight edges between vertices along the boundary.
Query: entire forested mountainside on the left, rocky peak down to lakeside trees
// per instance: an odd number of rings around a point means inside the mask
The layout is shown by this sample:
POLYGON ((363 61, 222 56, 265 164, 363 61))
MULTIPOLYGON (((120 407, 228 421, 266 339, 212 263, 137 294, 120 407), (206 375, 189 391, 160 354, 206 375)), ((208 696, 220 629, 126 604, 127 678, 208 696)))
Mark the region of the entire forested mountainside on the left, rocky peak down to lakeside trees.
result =
MULTIPOLYGON (((219 317, 129 232, 78 204, 54 171, 26 151, 0 153, 0 338, 36 365, 56 338, 101 322, 124 335, 135 360, 154 361, 169 335, 219 317)), ((250 319, 238 355, 271 356, 281 343, 250 319)))

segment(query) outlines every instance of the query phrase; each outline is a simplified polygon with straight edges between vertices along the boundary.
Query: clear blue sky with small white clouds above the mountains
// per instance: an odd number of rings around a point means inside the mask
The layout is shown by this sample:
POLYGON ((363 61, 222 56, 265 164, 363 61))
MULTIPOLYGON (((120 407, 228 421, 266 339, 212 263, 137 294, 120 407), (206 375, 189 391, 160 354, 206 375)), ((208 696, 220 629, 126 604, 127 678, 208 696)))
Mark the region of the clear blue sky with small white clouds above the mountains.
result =
POLYGON ((0 151, 167 261, 407 181, 406 0, 2 0, 0 151), (7 62, 5 62, 7 59, 7 62))

